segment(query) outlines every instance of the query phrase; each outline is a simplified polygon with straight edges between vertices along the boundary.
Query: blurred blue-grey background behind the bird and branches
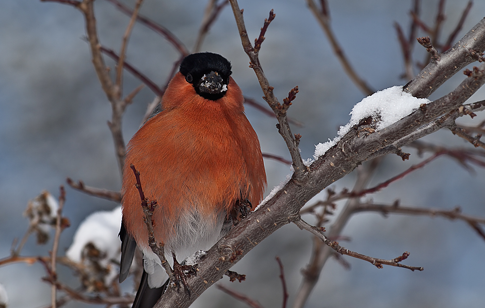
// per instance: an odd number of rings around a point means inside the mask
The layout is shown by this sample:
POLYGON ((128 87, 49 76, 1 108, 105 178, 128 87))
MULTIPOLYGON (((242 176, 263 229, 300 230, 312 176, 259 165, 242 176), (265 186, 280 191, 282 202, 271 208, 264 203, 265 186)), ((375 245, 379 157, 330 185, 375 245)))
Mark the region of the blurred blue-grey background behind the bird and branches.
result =
MULTIPOLYGON (((141 14, 166 26, 192 49, 197 37, 206 1, 146 0, 141 14)), ((409 28, 411 0, 329 1, 332 27, 349 57, 374 89, 402 85, 407 80, 402 52, 393 22, 409 28)), ((422 19, 431 25, 437 0, 422 1, 422 19)), ((124 1, 132 6, 133 0, 124 1)), ((314 145, 333 138, 340 125, 350 119, 349 112, 364 95, 343 73, 337 58, 304 0, 241 0, 246 28, 251 40, 257 37, 264 18, 275 9, 276 18, 266 32, 260 61, 280 101, 295 85, 300 93, 289 115, 305 124, 293 127, 302 134, 303 158, 311 157, 314 145)), ((446 2, 446 20, 442 39, 453 31, 467 1, 446 2)), ((129 18, 104 0, 96 1, 100 41, 119 50, 129 18)), ((460 38, 485 15, 485 1, 476 1, 460 38)), ((111 107, 91 65, 90 51, 83 40, 84 21, 80 12, 58 3, 38 0, 3 0, 0 10, 0 258, 10 253, 11 243, 28 227, 22 217, 29 199, 42 190, 58 196, 59 185, 66 177, 82 179, 86 185, 110 190, 120 189, 120 174, 114 158, 111 133, 106 125, 111 107)), ((424 33, 418 32, 419 36, 424 33)), ((415 57, 422 61, 424 48, 417 46, 415 57)), ((263 102, 261 89, 248 58, 244 54, 237 27, 229 6, 210 30, 202 51, 226 56, 233 65, 233 77, 246 97, 263 102)), ((153 81, 163 84, 178 52, 163 38, 137 24, 129 41, 127 61, 153 81)), ((114 67, 112 61, 107 64, 114 67)), ((476 65, 476 64, 475 64, 476 65)), ((417 73, 419 70, 415 70, 417 73)), ((447 94, 464 79, 458 73, 431 98, 447 94)), ((125 92, 140 82, 125 74, 125 92)), ((138 129, 146 105, 154 95, 148 89, 134 99, 123 120, 125 140, 138 129)), ((485 98, 481 89, 471 101, 485 98)), ((290 159, 288 150, 275 129, 276 121, 251 106, 246 114, 259 135, 263 152, 290 159)), ((484 119, 479 114, 473 121, 484 119)), ((425 138, 442 146, 472 146, 448 130, 425 138)), ((386 157, 372 184, 377 184, 421 159, 416 151, 406 162, 386 157)), ((265 160, 269 191, 290 173, 289 167, 265 160)), ((332 187, 351 188, 355 174, 339 180, 332 187)), ((422 170, 369 196, 376 202, 452 209, 460 205, 468 214, 484 217, 484 171, 469 172, 447 157, 441 157, 422 170)), ((317 197, 323 198, 324 193, 317 197)), ((61 237, 59 254, 70 245, 80 222, 91 212, 111 210, 117 204, 83 195, 67 188, 64 215, 71 227, 61 237)), ((377 258, 391 259, 404 251, 411 252, 406 264, 423 266, 423 272, 384 267, 344 257, 351 270, 330 259, 324 267, 307 307, 483 307, 485 297, 484 240, 465 223, 441 218, 409 217, 367 213, 354 216, 343 235, 351 242, 346 248, 377 258)), ((222 283, 248 294, 264 307, 280 307, 281 284, 275 256, 285 266, 290 303, 301 281, 301 269, 309 260, 312 239, 305 231, 289 225, 253 249, 233 269, 246 274, 246 281, 222 283)), ((46 255, 51 242, 37 246, 32 237, 23 255, 46 255)), ((60 277, 76 285, 76 277, 61 267, 60 277)), ((0 268, 0 283, 10 297, 10 307, 43 307, 50 303, 50 286, 41 282, 45 276, 40 264, 13 264, 0 268)), ((129 287, 127 288, 129 290, 129 287)), ((71 302, 66 307, 88 307, 71 302)), ((211 288, 193 307, 245 307, 216 288, 211 288)))

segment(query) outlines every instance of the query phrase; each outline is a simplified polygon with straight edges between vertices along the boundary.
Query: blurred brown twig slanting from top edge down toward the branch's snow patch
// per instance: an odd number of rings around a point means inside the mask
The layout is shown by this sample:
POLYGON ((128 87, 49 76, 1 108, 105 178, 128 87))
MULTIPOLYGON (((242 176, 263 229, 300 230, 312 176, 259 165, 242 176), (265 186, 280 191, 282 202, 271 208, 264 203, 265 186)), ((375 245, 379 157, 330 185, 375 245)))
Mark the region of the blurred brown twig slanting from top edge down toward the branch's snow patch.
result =
POLYGON ((325 35, 327 36, 327 39, 330 42, 330 45, 332 46, 335 55, 337 55, 340 64, 343 66, 345 73, 356 84, 360 91, 362 91, 362 93, 364 93, 365 95, 373 94, 375 92, 374 89, 372 89, 366 81, 364 81, 357 75, 356 71, 345 56, 343 49, 340 47, 339 42, 337 42, 337 38, 335 37, 335 34, 333 33, 330 26, 330 16, 328 12, 326 14, 323 14, 324 11, 318 9, 314 0, 307 0, 307 5, 315 18, 320 23, 320 26, 322 27, 323 32, 325 32, 325 35))

